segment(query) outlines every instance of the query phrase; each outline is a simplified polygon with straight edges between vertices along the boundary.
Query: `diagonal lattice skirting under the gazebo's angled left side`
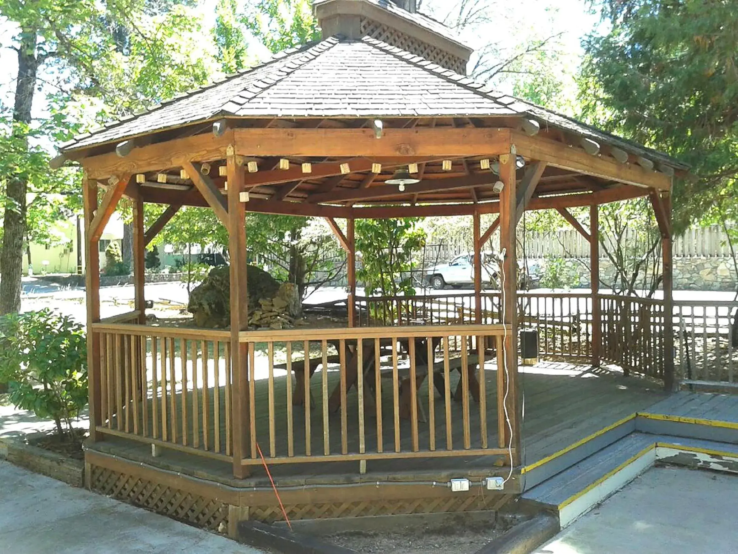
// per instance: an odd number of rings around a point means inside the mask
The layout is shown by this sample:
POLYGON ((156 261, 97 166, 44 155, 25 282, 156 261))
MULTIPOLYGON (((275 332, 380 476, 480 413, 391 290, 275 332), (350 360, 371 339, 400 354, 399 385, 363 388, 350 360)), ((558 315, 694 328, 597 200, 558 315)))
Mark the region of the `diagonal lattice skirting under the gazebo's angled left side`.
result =
POLYGON ((98 465, 91 465, 89 468, 90 488, 100 494, 148 508, 197 527, 221 533, 227 529, 228 505, 223 502, 98 465))

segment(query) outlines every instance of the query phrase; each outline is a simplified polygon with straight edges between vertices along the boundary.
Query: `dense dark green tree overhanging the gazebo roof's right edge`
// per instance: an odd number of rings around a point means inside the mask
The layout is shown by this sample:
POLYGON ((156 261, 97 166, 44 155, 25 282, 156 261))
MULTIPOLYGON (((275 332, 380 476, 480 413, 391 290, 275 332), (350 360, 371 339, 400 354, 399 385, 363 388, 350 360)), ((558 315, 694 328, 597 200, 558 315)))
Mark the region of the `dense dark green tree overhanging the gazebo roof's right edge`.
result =
POLYGON ((607 0, 610 33, 585 42, 590 120, 692 165, 675 183, 675 230, 735 211, 738 18, 731 1, 607 0), (722 214, 722 215, 721 215, 722 214))

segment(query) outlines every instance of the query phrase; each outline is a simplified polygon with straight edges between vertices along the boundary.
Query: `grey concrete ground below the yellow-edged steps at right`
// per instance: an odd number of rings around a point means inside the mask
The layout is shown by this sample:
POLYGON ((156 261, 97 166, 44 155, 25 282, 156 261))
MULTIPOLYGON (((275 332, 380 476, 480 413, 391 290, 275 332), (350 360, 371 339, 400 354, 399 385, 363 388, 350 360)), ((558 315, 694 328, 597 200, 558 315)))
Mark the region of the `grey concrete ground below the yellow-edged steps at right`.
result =
POLYGON ((738 476, 652 468, 536 554, 738 553, 738 476))

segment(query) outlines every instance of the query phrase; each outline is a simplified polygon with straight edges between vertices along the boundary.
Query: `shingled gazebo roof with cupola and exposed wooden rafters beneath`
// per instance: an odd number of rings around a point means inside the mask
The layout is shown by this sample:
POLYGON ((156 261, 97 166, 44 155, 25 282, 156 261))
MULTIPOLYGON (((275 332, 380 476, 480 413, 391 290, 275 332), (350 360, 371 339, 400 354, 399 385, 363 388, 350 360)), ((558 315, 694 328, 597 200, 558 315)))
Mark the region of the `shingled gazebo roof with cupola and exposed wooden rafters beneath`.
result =
MULTIPOLYGON (((378 1, 382 0, 322 0, 318 4, 326 9, 338 6, 342 10, 351 9, 357 13, 364 9, 376 10, 379 15, 374 14, 372 17, 381 18, 384 16, 384 8, 377 4, 378 1)), ((402 12, 401 8, 393 7, 394 4, 388 6, 391 10, 402 12)), ((421 34, 418 36, 421 38, 427 38, 422 33, 438 36, 440 47, 438 44, 429 46, 412 36, 395 33, 391 27, 385 24, 376 25, 370 19, 361 20, 359 31, 371 30, 375 35, 387 36, 387 40, 393 40, 396 44, 407 44, 418 51, 428 52, 428 55, 434 56, 438 61, 447 62, 446 65, 457 64, 459 58, 449 54, 449 49, 455 49, 458 45, 433 28, 440 24, 434 22, 430 25, 425 21, 428 18, 422 17, 415 13, 404 13, 396 19, 400 27, 408 19, 420 30, 421 34), (415 21, 418 17, 421 20, 415 21)), ((331 22, 326 20, 323 24, 329 26, 331 22)), ((414 32, 413 29, 408 32, 414 32)), ((459 51, 454 52, 458 54, 459 51)), ((497 92, 492 86, 477 83, 466 75, 433 63, 416 53, 371 36, 347 38, 345 35, 334 35, 314 44, 281 52, 264 64, 168 100, 148 112, 125 117, 92 133, 79 135, 75 140, 62 145, 61 152, 67 159, 84 160, 105 157, 115 151, 117 144, 128 140, 133 141, 137 147, 151 148, 159 143, 163 147, 164 143, 180 140, 182 137, 210 134, 213 122, 219 120, 224 120, 229 129, 244 131, 348 131, 370 127, 377 119, 384 122, 387 130, 421 132, 442 128, 457 131, 489 129, 489 137, 493 136, 494 131, 506 130, 512 134, 512 143, 519 145, 531 134, 538 134, 532 138, 544 140, 548 146, 554 146, 558 150, 549 148, 548 157, 534 155, 533 152, 539 154, 539 148, 529 143, 527 150, 519 151, 518 154, 523 154, 522 157, 519 156, 521 165, 533 160, 542 160, 547 164, 540 175, 534 198, 591 193, 615 187, 618 188, 618 193, 610 194, 602 201, 642 196, 647 194, 644 189, 649 187, 668 190, 670 179, 661 177, 670 177, 675 170, 686 169, 685 165, 666 154, 497 92), (568 149, 562 150, 562 147, 568 149), (594 152, 592 148, 595 149, 594 152), (566 160, 570 153, 578 156, 584 154, 585 150, 592 155, 585 157, 584 162, 581 158, 573 164, 566 160), (602 166, 599 170, 592 168, 590 171, 590 162, 586 160, 592 160, 591 163, 596 165, 597 158, 603 160, 605 165, 610 165, 602 166), (618 169, 615 159, 621 167, 626 168, 625 171, 618 169), (661 177, 658 177, 658 172, 662 173, 661 177), (641 191, 635 190, 638 187, 641 187, 641 191)), ((316 140, 323 140, 319 134, 315 136, 316 140)), ((348 137, 348 133, 346 136, 348 137)), ((459 137, 464 140, 463 134, 459 134, 459 137)), ((257 200, 252 203, 251 209, 259 209, 259 200, 289 202, 293 206, 294 202, 303 202, 351 208, 354 205, 387 203, 476 204, 497 199, 497 193, 493 191, 497 179, 489 169, 485 170, 483 164, 480 164, 480 160, 490 156, 472 155, 484 154, 483 148, 479 148, 482 143, 479 142, 477 151, 466 150, 469 154, 464 156, 418 156, 413 160, 401 158, 408 154, 397 151, 399 157, 385 157, 382 160, 366 156, 354 157, 349 174, 338 171, 339 163, 349 160, 345 154, 342 157, 331 157, 330 154, 317 157, 292 151, 291 155, 289 146, 285 143, 286 150, 280 149, 279 154, 274 152, 264 155, 259 154, 263 151, 259 148, 249 150, 250 143, 250 139, 246 140, 239 153, 258 164, 258 178, 252 179, 252 185, 249 185, 247 179, 252 199, 257 200), (323 165, 320 166, 320 171, 311 174, 300 174, 299 171, 280 172, 276 169, 277 165, 280 159, 285 158, 292 164, 307 162, 323 165), (446 164, 451 160, 452 168, 444 166, 444 160, 446 164), (382 187, 395 168, 409 162, 417 162, 421 166, 420 177, 424 183, 410 186, 404 194, 388 185, 382 187), (373 163, 382 164, 379 174, 372 173, 376 167, 373 163), (269 173, 265 173, 265 170, 269 173), (270 180, 270 177, 273 179, 270 180), (367 194, 357 195, 356 191, 362 189, 367 189, 367 194)), ((203 158, 201 160, 204 161, 203 158)), ((217 157, 209 160, 218 163, 217 157)), ((134 167, 131 163, 122 163, 125 167, 130 166, 125 171, 145 174, 139 175, 139 183, 146 202, 173 202, 171 189, 179 188, 183 191, 179 195, 184 205, 207 205, 192 183, 179 177, 178 165, 156 167, 154 171, 154 165, 146 169, 142 165, 134 167), (161 185, 162 173, 167 172, 176 174, 165 176, 165 185, 161 185), (170 190, 165 193, 162 188, 170 190)), ((519 179, 523 178, 525 169, 520 167, 519 179)), ((107 178, 104 175, 92 172, 95 178, 107 178)), ((224 179, 215 176, 213 180, 221 189, 225 187, 224 179)), ((271 202, 269 209, 273 210, 274 207, 275 202, 271 202)), ((293 211, 294 208, 287 210, 288 213, 293 211)))

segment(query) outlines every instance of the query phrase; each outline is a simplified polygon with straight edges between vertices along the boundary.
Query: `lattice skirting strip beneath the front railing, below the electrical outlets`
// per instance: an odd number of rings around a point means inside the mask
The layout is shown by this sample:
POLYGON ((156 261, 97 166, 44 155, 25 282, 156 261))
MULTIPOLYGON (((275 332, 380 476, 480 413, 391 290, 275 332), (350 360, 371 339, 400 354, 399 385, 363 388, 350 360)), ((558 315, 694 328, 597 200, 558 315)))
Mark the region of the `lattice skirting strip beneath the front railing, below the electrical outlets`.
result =
MULTIPOLYGON (((455 513, 476 510, 499 510, 513 495, 504 496, 458 496, 454 498, 423 498, 404 500, 368 500, 359 502, 328 502, 325 504, 285 505, 291 520, 353 518, 362 516, 396 516, 410 513, 455 513)), ((282 521, 284 516, 279 505, 250 506, 249 519, 282 521)))

